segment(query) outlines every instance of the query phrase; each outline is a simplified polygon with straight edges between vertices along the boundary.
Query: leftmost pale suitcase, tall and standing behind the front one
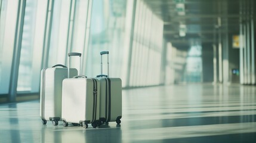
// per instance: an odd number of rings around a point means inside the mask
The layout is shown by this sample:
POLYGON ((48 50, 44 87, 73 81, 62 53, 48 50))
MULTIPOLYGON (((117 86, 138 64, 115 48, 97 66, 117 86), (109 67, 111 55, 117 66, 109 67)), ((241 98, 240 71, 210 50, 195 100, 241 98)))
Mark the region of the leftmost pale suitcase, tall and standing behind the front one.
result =
MULTIPOLYGON (((78 74, 76 69, 70 69, 70 75, 75 76, 76 74, 78 74)), ((62 80, 66 77, 67 67, 61 64, 41 71, 40 117, 43 125, 50 120, 56 126, 61 120, 62 80)))

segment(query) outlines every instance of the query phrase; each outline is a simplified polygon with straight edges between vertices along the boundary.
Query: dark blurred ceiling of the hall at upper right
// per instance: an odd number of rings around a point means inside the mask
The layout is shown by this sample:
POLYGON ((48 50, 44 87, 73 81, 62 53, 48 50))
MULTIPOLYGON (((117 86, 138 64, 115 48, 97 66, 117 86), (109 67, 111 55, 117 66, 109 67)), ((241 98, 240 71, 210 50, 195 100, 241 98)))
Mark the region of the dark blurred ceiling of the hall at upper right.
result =
POLYGON ((212 44, 218 33, 239 34, 240 21, 252 15, 256 4, 254 0, 144 0, 144 2, 164 21, 164 37, 177 48, 188 47, 191 39, 200 39, 202 43, 212 44), (182 26, 185 26, 186 36, 181 30, 182 26))

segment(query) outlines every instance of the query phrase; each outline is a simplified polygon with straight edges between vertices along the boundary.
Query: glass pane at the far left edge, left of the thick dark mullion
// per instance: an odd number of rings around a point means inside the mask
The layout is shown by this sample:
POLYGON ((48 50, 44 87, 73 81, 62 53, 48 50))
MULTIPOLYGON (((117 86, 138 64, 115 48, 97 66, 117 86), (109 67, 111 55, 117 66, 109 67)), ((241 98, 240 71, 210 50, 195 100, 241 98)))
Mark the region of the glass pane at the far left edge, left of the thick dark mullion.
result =
POLYGON ((2 1, 0 19, 0 94, 8 94, 16 30, 18 0, 2 1), (8 29, 8 32, 5 30, 8 29))

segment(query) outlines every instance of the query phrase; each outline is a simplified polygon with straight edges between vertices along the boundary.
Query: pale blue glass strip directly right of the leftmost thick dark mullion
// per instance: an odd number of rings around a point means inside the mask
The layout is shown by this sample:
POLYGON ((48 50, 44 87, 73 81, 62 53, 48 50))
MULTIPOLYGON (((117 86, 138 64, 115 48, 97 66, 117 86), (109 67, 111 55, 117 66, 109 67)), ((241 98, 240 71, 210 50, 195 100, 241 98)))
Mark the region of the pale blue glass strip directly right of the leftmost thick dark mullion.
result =
POLYGON ((31 91, 32 89, 33 42, 35 37, 37 2, 34 0, 26 1, 17 91, 31 91))

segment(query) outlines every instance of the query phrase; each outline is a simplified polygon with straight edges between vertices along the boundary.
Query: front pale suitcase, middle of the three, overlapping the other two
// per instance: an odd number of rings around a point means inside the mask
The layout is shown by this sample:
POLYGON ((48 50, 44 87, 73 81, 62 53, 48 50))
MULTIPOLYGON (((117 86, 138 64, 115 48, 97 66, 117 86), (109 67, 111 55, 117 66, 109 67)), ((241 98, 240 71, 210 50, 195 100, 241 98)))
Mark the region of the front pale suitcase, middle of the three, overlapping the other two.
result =
MULTIPOLYGON (((69 57, 70 57, 69 53, 69 57)), ((86 76, 75 76, 63 80, 62 120, 63 126, 82 125, 95 128, 100 124, 100 82, 86 76)))

